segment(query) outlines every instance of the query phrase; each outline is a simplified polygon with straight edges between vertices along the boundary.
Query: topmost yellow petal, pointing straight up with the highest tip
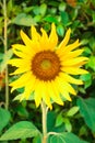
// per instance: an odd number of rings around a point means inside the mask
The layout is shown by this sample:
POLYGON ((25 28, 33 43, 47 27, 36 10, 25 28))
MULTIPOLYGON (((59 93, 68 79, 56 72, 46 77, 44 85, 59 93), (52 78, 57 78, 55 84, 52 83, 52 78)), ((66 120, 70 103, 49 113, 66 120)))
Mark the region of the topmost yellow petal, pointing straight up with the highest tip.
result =
POLYGON ((49 45, 50 45, 51 50, 55 50, 55 47, 57 46, 57 43, 58 43, 58 35, 56 32, 56 25, 52 23, 51 24, 51 32, 49 35, 49 45))

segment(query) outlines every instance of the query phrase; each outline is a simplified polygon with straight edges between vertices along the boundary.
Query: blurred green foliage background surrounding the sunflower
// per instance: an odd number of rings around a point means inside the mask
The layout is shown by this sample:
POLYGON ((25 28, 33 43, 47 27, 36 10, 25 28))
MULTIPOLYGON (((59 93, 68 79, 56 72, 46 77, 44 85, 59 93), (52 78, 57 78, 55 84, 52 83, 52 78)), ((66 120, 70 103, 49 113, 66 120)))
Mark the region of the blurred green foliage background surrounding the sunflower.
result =
MULTIPOLYGON (((7 62, 13 56, 11 45, 21 43, 20 30, 24 30, 29 35, 29 26, 34 24, 39 31, 43 26, 48 33, 50 24, 55 22, 59 41, 64 36, 68 28, 72 29, 71 41, 79 38, 90 57, 85 65, 90 74, 80 76, 84 80, 84 86, 75 86, 78 97, 73 97, 72 102, 66 101, 64 107, 54 103, 52 111, 48 112, 48 131, 74 133, 82 139, 82 142, 73 138, 73 143, 95 143, 95 1, 94 0, 8 0, 7 2, 7 24, 8 24, 8 50, 4 50, 4 9, 3 1, 0 0, 0 135, 1 143, 39 143, 35 139, 22 139, 17 136, 20 132, 14 132, 9 141, 9 135, 3 138, 3 133, 13 124, 20 121, 32 121, 41 131, 41 111, 36 109, 34 101, 14 100, 16 95, 23 89, 13 94, 9 92, 9 109, 7 110, 7 62), (38 117, 38 118, 37 118, 38 117), (7 140, 7 139, 8 140, 7 140), (14 141, 13 141, 14 140, 14 141)), ((14 70, 9 67, 9 73, 14 70)), ((9 82, 15 77, 8 77, 9 82)), ((10 91, 10 89, 9 89, 10 91)), ((27 122, 24 122, 24 124, 27 122)), ((32 124, 31 124, 32 125, 32 124)), ((26 125, 25 125, 26 127, 26 125)), ((24 129, 25 129, 24 127, 24 129)), ((32 125, 33 128, 33 125, 32 125)), ((19 131, 19 128, 16 129, 19 131)), ((35 132, 36 129, 34 128, 35 132)), ((27 132, 32 132, 28 130, 27 132)), ((35 136, 35 134, 27 135, 35 136)), ((69 136, 69 135, 68 135, 69 136)), ((51 143, 56 142, 57 136, 51 143)), ((61 140, 58 142, 61 143, 61 140)), ((66 141, 69 142, 69 139, 66 141)))

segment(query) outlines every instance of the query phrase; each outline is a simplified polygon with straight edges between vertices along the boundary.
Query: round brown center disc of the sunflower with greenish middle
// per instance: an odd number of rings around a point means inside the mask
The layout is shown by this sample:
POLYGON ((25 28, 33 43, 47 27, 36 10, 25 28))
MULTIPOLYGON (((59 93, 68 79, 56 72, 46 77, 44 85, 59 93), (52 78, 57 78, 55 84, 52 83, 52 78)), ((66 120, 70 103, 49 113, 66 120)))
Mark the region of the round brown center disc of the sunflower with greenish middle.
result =
POLYGON ((60 59, 55 52, 43 51, 33 57, 32 72, 36 78, 47 81, 52 80, 60 73, 60 59))

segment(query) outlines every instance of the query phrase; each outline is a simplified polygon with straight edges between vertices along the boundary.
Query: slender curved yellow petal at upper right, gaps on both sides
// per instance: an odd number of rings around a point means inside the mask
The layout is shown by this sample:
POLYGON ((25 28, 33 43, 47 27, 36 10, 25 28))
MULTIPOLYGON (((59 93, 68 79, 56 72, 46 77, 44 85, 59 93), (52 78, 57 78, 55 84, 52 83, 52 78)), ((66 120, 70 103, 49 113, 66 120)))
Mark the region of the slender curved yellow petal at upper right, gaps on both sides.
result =
POLYGON ((66 33, 64 38, 62 40, 62 42, 59 44, 58 50, 59 48, 64 48, 64 46, 68 44, 69 40, 70 40, 70 33, 71 33, 71 29, 69 29, 66 33))

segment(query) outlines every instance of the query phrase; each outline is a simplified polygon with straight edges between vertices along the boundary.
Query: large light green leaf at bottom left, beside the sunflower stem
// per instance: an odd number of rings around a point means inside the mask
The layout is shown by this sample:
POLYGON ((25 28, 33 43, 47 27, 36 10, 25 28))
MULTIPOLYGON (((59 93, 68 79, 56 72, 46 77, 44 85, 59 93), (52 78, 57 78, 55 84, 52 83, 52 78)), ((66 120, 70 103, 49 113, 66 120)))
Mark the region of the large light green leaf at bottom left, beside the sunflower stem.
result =
POLYGON ((38 134, 39 131, 32 122, 21 121, 12 125, 4 134, 2 134, 0 141, 34 138, 38 134))

